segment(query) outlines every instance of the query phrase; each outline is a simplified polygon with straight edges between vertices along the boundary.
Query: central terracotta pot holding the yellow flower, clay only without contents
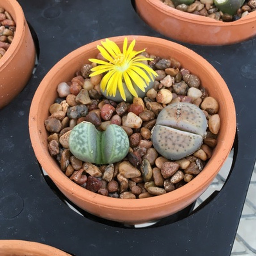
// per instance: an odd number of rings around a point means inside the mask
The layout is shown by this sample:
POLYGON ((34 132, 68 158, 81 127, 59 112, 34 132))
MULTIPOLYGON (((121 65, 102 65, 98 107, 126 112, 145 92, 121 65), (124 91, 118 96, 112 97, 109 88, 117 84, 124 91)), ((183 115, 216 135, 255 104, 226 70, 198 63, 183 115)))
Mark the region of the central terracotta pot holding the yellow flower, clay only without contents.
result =
MULTIPOLYGON (((110 38, 119 47, 124 36, 110 38)), ((36 157, 43 169, 51 177, 61 192, 82 209, 99 217, 117 222, 141 223, 166 217, 190 205, 209 186, 220 170, 233 145, 235 137, 235 107, 230 92, 218 72, 200 55, 177 43, 162 38, 147 36, 128 36, 128 41, 136 39, 135 50, 147 49, 147 52, 164 58, 173 57, 201 79, 201 84, 209 95, 216 98, 220 105, 221 128, 218 144, 213 156, 201 174, 173 192, 145 199, 111 198, 90 192, 71 181, 61 170, 47 149, 47 131, 44 120, 48 118, 48 109, 57 98, 57 85, 62 81, 71 81, 75 72, 88 58, 98 54, 96 46, 100 40, 89 43, 71 52, 60 60, 44 77, 38 86, 30 108, 30 139, 36 157)))

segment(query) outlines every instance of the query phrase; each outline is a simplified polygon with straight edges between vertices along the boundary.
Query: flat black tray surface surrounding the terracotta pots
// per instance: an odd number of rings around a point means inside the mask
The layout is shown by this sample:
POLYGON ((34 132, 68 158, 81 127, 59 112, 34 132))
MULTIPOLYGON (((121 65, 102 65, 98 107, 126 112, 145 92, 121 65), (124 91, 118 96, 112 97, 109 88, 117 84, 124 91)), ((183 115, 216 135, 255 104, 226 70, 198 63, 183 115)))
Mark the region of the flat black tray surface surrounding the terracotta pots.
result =
POLYGON ((51 67, 77 47, 116 35, 166 37, 141 21, 130 0, 18 2, 36 32, 40 55, 25 89, 0 110, 0 239, 45 243, 74 256, 230 255, 256 158, 256 38, 220 47, 181 43, 218 70, 234 98, 234 164, 221 191, 198 211, 174 223, 176 216, 150 228, 125 228, 75 213, 46 182, 30 144, 30 103, 51 67))

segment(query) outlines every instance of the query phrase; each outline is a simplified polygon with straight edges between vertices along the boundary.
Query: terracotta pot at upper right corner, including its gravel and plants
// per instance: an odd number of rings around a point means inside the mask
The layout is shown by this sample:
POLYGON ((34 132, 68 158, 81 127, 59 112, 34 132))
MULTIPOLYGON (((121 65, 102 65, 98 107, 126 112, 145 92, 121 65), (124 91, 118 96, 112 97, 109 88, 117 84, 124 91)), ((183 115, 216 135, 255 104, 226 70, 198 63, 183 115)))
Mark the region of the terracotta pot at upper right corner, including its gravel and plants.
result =
POLYGON ((139 16, 151 28, 184 43, 228 45, 256 35, 254 0, 135 0, 135 6, 139 16), (222 9, 218 15, 214 14, 214 9, 218 10, 214 4, 222 9), (244 6, 239 8, 242 4, 244 6), (201 9, 201 5, 206 7, 201 9), (235 15, 237 8, 239 15, 235 15), (226 13, 227 10, 230 13, 226 13))

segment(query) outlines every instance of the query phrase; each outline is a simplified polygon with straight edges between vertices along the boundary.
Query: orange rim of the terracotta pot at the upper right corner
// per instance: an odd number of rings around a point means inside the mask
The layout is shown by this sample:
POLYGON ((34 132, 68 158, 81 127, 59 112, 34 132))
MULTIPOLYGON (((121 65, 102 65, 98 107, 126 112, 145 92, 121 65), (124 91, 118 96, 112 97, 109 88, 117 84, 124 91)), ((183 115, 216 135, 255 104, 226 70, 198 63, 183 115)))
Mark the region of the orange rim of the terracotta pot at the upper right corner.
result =
POLYGON ((160 0, 145 0, 149 4, 153 6, 153 8, 158 9, 162 13, 173 17, 180 21, 187 21, 195 24, 202 24, 206 26, 221 26, 221 27, 229 27, 229 26, 237 26, 237 25, 243 25, 246 23, 251 22, 252 20, 256 19, 256 11, 253 11, 249 13, 247 16, 240 18, 237 21, 231 21, 231 22, 223 22, 223 21, 217 21, 209 17, 195 15, 192 13, 186 13, 182 12, 180 10, 177 10, 175 8, 172 8, 164 3, 162 3, 160 0))

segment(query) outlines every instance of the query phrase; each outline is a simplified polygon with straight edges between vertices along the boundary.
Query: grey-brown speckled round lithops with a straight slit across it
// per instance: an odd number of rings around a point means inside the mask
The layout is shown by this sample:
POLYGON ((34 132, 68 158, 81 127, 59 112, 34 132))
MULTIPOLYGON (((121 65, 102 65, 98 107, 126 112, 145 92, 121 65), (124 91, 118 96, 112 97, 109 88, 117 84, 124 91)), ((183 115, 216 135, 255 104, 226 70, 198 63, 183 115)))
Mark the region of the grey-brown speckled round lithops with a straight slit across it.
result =
POLYGON ((199 107, 187 102, 173 103, 159 113, 151 140, 159 154, 178 160, 201 147, 206 129, 207 120, 199 107))

